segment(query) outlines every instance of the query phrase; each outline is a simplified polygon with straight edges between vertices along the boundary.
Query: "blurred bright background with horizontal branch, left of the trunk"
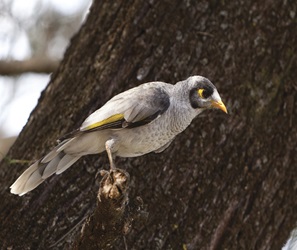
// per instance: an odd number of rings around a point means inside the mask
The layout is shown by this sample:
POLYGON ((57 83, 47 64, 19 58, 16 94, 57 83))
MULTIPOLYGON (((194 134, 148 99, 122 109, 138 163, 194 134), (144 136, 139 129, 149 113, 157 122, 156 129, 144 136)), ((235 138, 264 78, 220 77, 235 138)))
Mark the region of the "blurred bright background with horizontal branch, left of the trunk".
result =
POLYGON ((90 4, 0 0, 0 160, 26 124, 90 4))

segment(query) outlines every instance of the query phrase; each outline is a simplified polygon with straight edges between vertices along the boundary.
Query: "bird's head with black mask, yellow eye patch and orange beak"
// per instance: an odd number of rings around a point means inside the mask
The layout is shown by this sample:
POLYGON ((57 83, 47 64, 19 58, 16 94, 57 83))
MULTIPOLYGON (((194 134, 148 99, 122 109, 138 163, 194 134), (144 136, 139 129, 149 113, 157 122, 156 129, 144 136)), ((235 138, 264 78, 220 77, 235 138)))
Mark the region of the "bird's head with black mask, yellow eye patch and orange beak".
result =
POLYGON ((190 103, 194 109, 216 108, 228 113, 211 81, 203 76, 191 76, 186 81, 190 88, 190 103))

